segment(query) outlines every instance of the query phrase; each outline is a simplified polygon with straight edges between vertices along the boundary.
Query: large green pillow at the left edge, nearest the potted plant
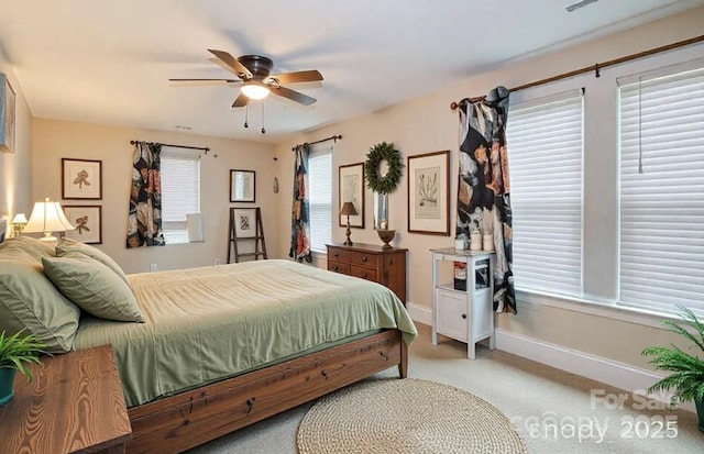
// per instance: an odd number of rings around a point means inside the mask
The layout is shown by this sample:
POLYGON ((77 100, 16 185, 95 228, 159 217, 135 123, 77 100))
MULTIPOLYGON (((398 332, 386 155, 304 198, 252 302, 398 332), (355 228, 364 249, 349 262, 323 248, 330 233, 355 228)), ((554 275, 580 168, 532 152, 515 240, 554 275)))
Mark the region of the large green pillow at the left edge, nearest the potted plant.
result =
POLYGON ((0 251, 0 332, 35 334, 48 353, 74 346, 80 310, 42 273, 42 265, 22 251, 0 251))

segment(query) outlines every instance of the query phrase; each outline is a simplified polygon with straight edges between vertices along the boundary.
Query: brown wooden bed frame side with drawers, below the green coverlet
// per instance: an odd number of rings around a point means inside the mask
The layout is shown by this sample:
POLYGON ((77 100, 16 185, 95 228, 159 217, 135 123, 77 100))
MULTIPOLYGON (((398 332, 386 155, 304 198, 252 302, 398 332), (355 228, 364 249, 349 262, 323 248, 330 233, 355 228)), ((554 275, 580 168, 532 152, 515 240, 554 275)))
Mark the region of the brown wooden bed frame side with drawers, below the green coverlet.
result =
POLYGON ((398 365, 400 331, 386 330, 129 410, 128 453, 179 453, 398 365))

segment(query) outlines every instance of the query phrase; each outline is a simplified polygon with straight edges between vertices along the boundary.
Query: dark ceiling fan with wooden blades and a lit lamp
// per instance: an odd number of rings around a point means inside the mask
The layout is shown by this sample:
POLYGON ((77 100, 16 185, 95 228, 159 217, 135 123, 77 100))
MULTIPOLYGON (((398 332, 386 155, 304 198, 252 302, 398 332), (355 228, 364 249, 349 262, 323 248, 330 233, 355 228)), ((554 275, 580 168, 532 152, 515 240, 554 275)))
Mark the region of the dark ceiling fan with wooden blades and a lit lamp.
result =
POLYGON ((270 93, 278 95, 304 106, 310 106, 316 102, 316 98, 282 86, 282 84, 315 82, 322 80, 322 75, 316 69, 272 75, 274 62, 272 62, 271 58, 261 55, 243 55, 234 58, 224 51, 208 49, 208 52, 216 56, 216 63, 237 75, 240 79, 168 80, 172 82, 221 81, 224 84, 242 84, 240 87, 240 96, 238 96, 232 103, 233 108, 246 106, 250 99, 264 99, 270 93))

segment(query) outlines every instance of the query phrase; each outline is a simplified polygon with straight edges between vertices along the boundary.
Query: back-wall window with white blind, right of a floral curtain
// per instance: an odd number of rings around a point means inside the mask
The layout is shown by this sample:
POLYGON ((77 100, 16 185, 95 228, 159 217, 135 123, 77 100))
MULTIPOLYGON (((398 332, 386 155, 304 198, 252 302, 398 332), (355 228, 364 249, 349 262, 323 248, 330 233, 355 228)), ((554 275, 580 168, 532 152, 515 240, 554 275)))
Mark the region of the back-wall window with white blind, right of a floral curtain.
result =
POLYGON ((162 147, 162 229, 166 244, 188 243, 186 214, 200 212, 200 156, 162 147))

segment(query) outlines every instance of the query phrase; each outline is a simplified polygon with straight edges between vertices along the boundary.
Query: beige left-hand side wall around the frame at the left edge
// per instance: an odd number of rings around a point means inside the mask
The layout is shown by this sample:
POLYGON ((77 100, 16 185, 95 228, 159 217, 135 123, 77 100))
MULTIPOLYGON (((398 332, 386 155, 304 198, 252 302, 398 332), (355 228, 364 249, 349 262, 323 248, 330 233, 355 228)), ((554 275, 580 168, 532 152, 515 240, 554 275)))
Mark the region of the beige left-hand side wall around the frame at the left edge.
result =
POLYGON ((0 152, 0 219, 11 220, 18 212, 29 217, 32 209, 32 113, 1 46, 0 73, 6 74, 16 96, 15 150, 14 153, 0 152))

